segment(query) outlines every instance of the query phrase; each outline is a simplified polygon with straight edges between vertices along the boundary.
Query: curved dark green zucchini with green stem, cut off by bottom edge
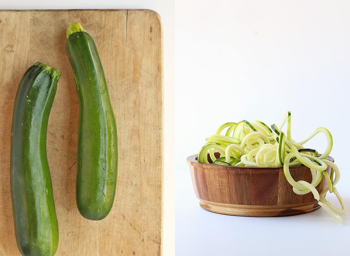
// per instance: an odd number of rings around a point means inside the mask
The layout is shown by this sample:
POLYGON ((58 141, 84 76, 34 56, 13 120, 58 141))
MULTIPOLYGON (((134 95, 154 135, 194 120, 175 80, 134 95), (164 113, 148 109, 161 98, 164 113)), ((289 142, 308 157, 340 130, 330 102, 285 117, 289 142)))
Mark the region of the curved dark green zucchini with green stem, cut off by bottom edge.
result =
POLYGON ((36 63, 23 75, 15 97, 10 188, 16 241, 23 256, 51 256, 58 247, 46 133, 60 75, 36 63))

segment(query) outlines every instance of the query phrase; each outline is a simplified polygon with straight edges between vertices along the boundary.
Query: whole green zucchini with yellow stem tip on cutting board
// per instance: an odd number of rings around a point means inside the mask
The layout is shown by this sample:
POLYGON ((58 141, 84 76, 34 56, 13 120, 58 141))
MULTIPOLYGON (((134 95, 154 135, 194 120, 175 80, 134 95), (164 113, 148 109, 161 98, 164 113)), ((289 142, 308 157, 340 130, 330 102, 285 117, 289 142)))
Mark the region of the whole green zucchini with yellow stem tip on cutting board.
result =
POLYGON ((79 99, 76 202, 84 218, 101 220, 111 211, 116 192, 116 120, 96 45, 79 23, 72 24, 81 28, 67 32, 66 42, 79 99))

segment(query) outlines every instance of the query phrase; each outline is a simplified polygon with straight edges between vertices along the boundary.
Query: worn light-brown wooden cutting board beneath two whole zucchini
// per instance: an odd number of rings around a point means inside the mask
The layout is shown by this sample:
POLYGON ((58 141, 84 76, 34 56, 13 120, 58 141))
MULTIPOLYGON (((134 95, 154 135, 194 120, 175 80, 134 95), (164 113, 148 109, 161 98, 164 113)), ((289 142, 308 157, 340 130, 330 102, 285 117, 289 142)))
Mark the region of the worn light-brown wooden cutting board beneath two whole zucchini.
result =
POLYGON ((20 255, 10 195, 10 130, 19 81, 36 61, 62 71, 52 106, 47 154, 59 225, 58 256, 161 255, 163 50, 151 10, 0 11, 0 255, 20 255), (90 221, 75 201, 79 105, 65 54, 66 27, 80 22, 94 38, 118 129, 116 199, 90 221))

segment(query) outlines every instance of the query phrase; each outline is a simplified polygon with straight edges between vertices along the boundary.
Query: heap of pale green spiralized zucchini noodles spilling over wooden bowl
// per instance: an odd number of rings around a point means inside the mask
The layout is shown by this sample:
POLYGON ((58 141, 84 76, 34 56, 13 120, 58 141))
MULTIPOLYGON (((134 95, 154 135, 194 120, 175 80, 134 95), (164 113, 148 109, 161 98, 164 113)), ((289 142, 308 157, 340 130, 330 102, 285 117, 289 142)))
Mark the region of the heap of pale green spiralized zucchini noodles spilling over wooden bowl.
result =
POLYGON ((198 162, 209 163, 208 152, 212 164, 227 166, 247 166, 247 167, 283 167, 283 172, 290 185, 293 186, 294 193, 305 195, 313 193, 314 198, 332 217, 340 223, 343 222, 338 214, 345 214, 346 208, 335 185, 339 181, 340 172, 335 163, 326 159, 332 150, 333 139, 331 133, 323 128, 317 128, 308 138, 296 142, 292 139, 291 115, 287 111, 282 124, 277 127, 271 125, 270 129, 260 121, 248 122, 243 120, 239 123, 225 123, 221 125, 216 133, 205 141, 205 144, 198 153, 198 162), (287 133, 282 132, 282 128, 287 122, 287 133), (222 135, 226 129, 225 135, 222 135), (327 138, 327 148, 319 155, 315 149, 304 148, 304 144, 318 133, 324 133, 327 138), (214 152, 220 154, 215 157, 214 152), (295 181, 290 175, 289 166, 304 165, 310 168, 312 181, 295 181), (331 168, 330 175, 327 167, 331 168), (318 193, 316 186, 321 182, 322 175, 325 177, 328 188, 318 193), (336 195, 342 209, 338 209, 325 199, 327 192, 336 195), (335 214, 338 213, 338 214, 335 214))

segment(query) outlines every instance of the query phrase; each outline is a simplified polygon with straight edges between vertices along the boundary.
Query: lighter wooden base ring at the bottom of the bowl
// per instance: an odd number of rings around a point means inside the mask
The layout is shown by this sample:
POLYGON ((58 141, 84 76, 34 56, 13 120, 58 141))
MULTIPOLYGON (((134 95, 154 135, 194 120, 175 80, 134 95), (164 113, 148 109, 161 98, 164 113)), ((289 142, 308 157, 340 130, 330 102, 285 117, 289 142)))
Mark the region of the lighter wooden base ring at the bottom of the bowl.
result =
POLYGON ((317 204, 317 202, 311 204, 291 205, 239 205, 200 200, 199 204, 204 210, 210 212, 246 217, 279 217, 298 215, 316 211, 321 207, 317 204))

